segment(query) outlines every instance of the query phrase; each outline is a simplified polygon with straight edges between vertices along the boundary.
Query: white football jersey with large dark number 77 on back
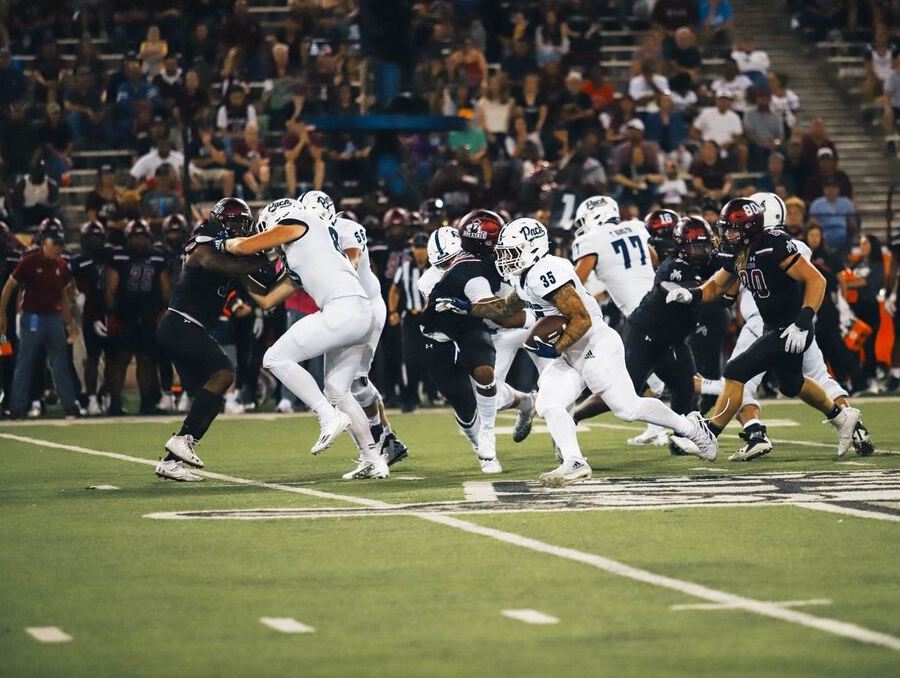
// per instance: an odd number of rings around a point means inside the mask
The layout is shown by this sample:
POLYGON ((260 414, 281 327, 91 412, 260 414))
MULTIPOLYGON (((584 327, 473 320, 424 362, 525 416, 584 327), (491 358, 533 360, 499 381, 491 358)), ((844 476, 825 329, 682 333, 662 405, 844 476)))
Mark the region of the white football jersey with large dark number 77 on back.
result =
POLYGON ((625 317, 653 288, 650 234, 642 221, 631 219, 591 227, 572 243, 572 260, 594 256, 594 273, 625 317))

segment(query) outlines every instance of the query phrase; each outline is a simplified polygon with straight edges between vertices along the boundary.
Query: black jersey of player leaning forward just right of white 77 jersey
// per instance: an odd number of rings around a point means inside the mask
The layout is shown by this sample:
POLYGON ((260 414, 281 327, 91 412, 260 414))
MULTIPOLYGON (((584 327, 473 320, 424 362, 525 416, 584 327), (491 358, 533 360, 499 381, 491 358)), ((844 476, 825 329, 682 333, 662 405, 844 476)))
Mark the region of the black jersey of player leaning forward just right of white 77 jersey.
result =
POLYGON ((656 269, 653 287, 628 318, 629 330, 638 330, 660 342, 674 344, 683 341, 697 327, 700 307, 667 304, 669 290, 663 287, 663 283, 693 288, 703 280, 700 271, 690 262, 677 257, 663 260, 656 269))

